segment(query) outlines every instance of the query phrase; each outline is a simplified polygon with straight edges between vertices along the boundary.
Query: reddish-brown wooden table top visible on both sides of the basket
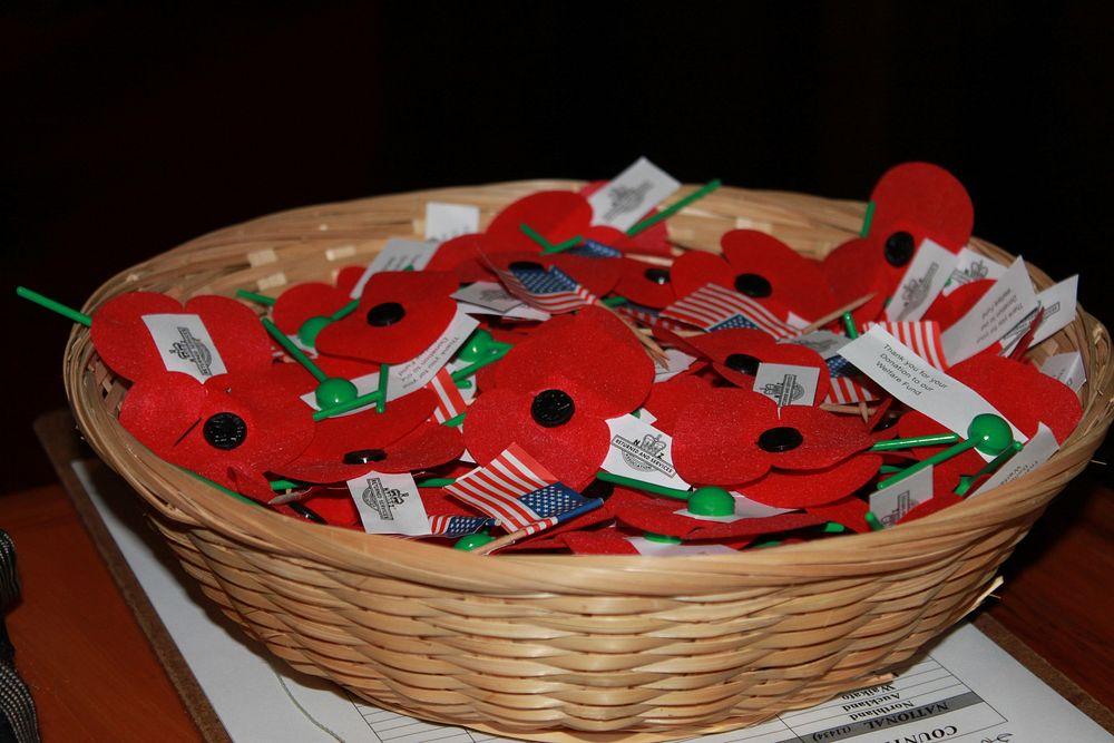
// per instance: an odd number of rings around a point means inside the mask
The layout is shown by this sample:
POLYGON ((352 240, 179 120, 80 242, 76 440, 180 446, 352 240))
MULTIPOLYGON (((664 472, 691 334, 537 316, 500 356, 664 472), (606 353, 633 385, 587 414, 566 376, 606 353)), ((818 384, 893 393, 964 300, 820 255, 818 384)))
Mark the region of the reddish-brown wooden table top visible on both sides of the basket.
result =
MULTIPOLYGON (((7 620, 43 740, 204 740, 190 714, 195 705, 183 703, 156 654, 166 648, 148 643, 129 608, 137 597, 125 600, 61 485, 0 496, 0 527, 18 550, 23 600, 7 620)), ((1112 546, 1114 490, 1108 473, 1093 465, 1007 563, 1006 585, 984 609, 993 619, 980 619, 980 626, 997 627, 996 641, 1107 726, 1114 707, 1112 546)), ((179 686, 182 681, 176 677, 179 686)), ((201 724, 212 740, 212 727, 201 724)))

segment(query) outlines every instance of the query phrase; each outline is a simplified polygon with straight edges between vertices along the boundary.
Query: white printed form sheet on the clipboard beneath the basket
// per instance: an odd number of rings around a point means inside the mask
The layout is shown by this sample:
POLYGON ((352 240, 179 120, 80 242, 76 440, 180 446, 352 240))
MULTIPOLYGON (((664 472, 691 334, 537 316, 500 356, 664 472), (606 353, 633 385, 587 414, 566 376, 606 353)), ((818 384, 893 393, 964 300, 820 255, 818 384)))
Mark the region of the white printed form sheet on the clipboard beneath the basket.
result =
MULTIPOLYGON (((141 506, 127 485, 99 461, 76 460, 74 470, 232 740, 509 740, 380 710, 271 658, 201 596, 168 548, 138 516, 141 506)), ((685 740, 1101 743, 1114 741, 1114 736, 978 629, 964 624, 888 684, 850 692, 743 730, 685 740)))

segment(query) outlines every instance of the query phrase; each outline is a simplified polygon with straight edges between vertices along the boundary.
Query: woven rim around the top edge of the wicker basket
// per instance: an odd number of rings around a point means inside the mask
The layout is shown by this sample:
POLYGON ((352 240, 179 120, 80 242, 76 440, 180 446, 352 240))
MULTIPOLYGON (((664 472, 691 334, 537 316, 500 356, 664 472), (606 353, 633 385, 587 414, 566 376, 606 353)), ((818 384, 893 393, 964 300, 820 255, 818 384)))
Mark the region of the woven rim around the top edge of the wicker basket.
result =
MULTIPOLYGON (((351 199, 332 204, 312 205, 286 209, 275 214, 265 215, 250 219, 247 222, 211 232, 206 235, 189 241, 180 246, 159 254, 144 263, 131 266, 116 276, 106 281, 100 289, 95 292, 84 309, 91 312, 98 304, 117 293, 129 291, 129 276, 144 270, 145 266, 165 258, 169 255, 188 253, 213 241, 243 236, 253 229, 265 226, 277 217, 290 217, 293 215, 313 215, 336 207, 373 206, 377 202, 385 199, 397 199, 399 197, 413 197, 426 201, 433 201, 438 197, 459 195, 471 189, 509 189, 509 190, 539 190, 545 188, 567 189, 583 185, 584 182, 569 179, 529 179, 505 182, 499 184, 486 184, 480 186, 446 187, 434 189, 419 189, 407 192, 405 194, 388 194, 368 198, 351 199)), ((695 188, 687 186, 686 188, 695 188)), ((859 211, 864 209, 862 202, 851 199, 829 199, 820 196, 807 194, 795 194, 790 192, 744 189, 724 186, 720 189, 721 196, 733 198, 756 198, 776 203, 779 199, 790 199, 801 203, 818 204, 822 207, 833 207, 839 209, 859 211)), ((701 204, 694 205, 700 211, 701 204)), ((785 207, 789 208, 789 207, 785 207)), ((1003 262, 1008 253, 997 248, 990 243, 973 238, 971 244, 976 250, 985 253, 989 257, 1003 262)), ((1030 274, 1039 284, 1048 285, 1051 280, 1035 266, 1029 266, 1030 274)), ((694 579, 693 588, 707 588, 710 581, 714 581, 716 576, 727 577, 740 573, 761 573, 771 578, 790 579, 808 575, 812 578, 830 576, 847 576, 854 565, 862 565, 866 569, 869 566, 871 571, 880 569, 887 564, 892 565, 892 569, 901 569, 903 558, 899 549, 902 542, 916 538, 918 540, 940 539, 940 554, 948 551, 947 537, 957 529, 984 530, 991 535, 998 525, 1003 522, 1004 511, 1017 511, 1022 514, 1027 510, 1024 506, 1035 496, 1034 492, 1040 487, 1052 483, 1056 491, 1074 477, 1086 463, 1068 462, 1068 451, 1089 452, 1101 443, 1114 418, 1114 408, 1111 405, 1114 399, 1114 366, 1110 363, 1110 335, 1105 326, 1096 319, 1079 309, 1077 317, 1072 326, 1079 338, 1076 339, 1078 348, 1084 353, 1088 372, 1086 398, 1084 402, 1084 418, 1076 431, 1065 441, 1061 450, 1048 461, 1033 472, 1019 478, 1010 483, 996 488, 986 495, 962 504, 942 509, 931 516, 917 521, 903 524, 898 528, 885 529, 868 534, 841 535, 838 538, 814 540, 797 545, 782 545, 775 549, 744 550, 732 555, 697 555, 678 556, 663 559, 654 556, 619 556, 619 555, 528 555, 528 554, 500 554, 496 556, 478 556, 473 554, 461 554, 459 551, 451 555, 455 561, 471 571, 471 568, 480 565, 476 560, 487 560, 483 569, 491 575, 490 581, 477 590, 489 590, 492 585, 501 585, 507 590, 526 590, 530 593, 545 593, 545 587, 550 581, 539 580, 539 573, 545 568, 560 567, 566 571, 568 568, 576 568, 575 580, 560 580, 560 590, 598 592, 607 589, 608 578, 614 579, 614 575, 623 574, 624 580, 629 581, 634 575, 653 576, 661 571, 667 571, 676 577, 678 573, 691 574, 694 579), (896 550, 897 556, 882 558, 886 550, 896 550), (831 569, 825 571, 824 568, 831 569)), ((1063 331, 1062 331, 1063 332, 1063 331)), ((66 379, 67 392, 75 414, 86 430, 92 420, 84 407, 84 401, 78 394, 77 387, 79 379, 85 372, 85 366, 90 362, 94 352, 88 342, 88 330, 77 326, 74 329, 66 352, 66 379), (75 372, 76 370, 76 372, 75 372)), ((165 504, 156 502, 156 496, 152 492, 147 480, 154 480, 166 486, 172 491, 188 492, 189 498, 204 502, 206 507, 218 510, 222 519, 202 518, 201 525, 216 532, 224 534, 234 539, 247 536, 253 528, 257 529, 257 537, 270 537, 275 544, 267 544, 268 540, 255 539, 256 546, 264 550, 287 551, 289 547, 296 547, 293 551, 312 556, 333 567, 341 569, 359 569, 370 566, 372 563, 381 566, 384 554, 392 554, 394 559, 404 558, 404 561, 413 567, 413 579, 428 581, 430 585, 446 586, 452 584, 451 577, 446 576, 444 563, 449 555, 446 547, 424 544, 414 540, 400 540, 395 537, 368 535, 355 530, 319 526, 300 520, 291 519, 277 512, 242 504, 221 493, 207 486, 201 486, 188 475, 178 471, 172 465, 155 461, 146 462, 138 456, 143 449, 138 442, 123 430, 113 418, 113 426, 118 429, 115 432, 86 430, 90 441, 94 442, 98 453, 104 456, 100 447, 105 446, 105 439, 100 433, 114 433, 114 446, 119 448, 123 443, 123 451, 131 457, 136 465, 141 466, 145 478, 137 477, 134 470, 127 470, 123 475, 136 487, 144 498, 152 505, 163 510, 172 518, 185 516, 178 511, 177 505, 167 507, 165 504), (98 446, 98 443, 100 446, 98 446), (176 512, 177 511, 177 512, 176 512), (235 526, 233 530, 229 527, 235 526), (281 537, 281 538, 278 538, 281 537), (278 545, 282 545, 280 549, 278 545), (447 583, 448 580, 448 583, 447 583)), ((190 515, 196 517, 196 514, 190 515)), ((187 517, 186 520, 189 520, 187 517)), ((921 559, 926 553, 919 550, 917 558, 921 559)), ((911 558, 910 558, 911 559, 911 558)), ((472 581, 462 585, 453 585, 456 589, 469 590, 472 581)), ((551 586, 553 587, 553 586, 551 586)), ((627 583, 623 586, 614 587, 616 594, 626 594, 628 589, 638 586, 627 583)))

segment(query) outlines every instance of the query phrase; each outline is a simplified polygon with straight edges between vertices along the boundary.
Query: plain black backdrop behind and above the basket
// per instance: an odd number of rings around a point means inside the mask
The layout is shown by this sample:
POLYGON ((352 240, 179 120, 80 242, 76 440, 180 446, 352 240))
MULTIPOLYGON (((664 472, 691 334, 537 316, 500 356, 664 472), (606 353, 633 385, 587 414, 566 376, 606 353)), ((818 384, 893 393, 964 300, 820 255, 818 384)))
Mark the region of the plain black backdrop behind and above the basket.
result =
POLYGON ((121 268, 311 203, 646 155, 684 182, 866 199, 909 159, 976 234, 1114 320, 1110 3, 39 2, 0 10, 2 489, 52 479, 69 323, 121 268), (443 7, 442 7, 443 6, 443 7), (1085 270, 1094 266, 1093 270, 1085 270))

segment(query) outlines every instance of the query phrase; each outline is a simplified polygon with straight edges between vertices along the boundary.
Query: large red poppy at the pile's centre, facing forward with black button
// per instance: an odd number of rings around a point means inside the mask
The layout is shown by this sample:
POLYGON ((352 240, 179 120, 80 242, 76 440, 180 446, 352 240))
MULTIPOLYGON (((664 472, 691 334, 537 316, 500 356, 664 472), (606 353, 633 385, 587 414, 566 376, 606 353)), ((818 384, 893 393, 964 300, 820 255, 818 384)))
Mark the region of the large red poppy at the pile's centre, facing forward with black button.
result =
POLYGON ((518 443, 578 490, 607 454, 605 421, 642 404, 654 364, 622 321, 585 307, 508 351, 489 379, 465 419, 468 451, 486 465, 518 443))

